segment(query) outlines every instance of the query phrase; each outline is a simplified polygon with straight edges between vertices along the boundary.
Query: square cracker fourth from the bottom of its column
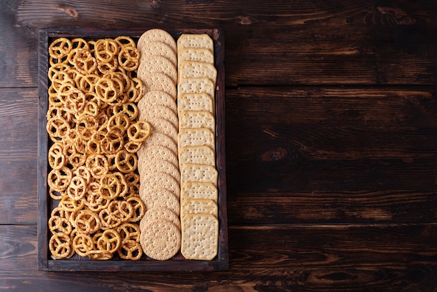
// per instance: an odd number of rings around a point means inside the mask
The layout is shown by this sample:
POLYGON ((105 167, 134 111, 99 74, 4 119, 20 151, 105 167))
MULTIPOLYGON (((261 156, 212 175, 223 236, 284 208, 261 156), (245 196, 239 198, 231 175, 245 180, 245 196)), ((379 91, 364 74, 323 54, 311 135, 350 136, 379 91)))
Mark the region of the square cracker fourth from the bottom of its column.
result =
POLYGON ((187 163, 180 172, 181 185, 185 182, 212 182, 214 186, 217 186, 218 172, 214 166, 187 163))

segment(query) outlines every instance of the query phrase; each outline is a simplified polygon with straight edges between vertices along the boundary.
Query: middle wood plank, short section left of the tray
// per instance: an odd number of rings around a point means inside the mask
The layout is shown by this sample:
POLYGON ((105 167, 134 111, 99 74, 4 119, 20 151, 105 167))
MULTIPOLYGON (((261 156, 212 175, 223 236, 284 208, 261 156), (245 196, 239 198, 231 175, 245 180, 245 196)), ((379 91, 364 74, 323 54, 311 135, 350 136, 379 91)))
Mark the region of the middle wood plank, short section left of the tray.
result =
POLYGON ((38 94, 0 88, 0 96, 0 224, 34 224, 38 94))

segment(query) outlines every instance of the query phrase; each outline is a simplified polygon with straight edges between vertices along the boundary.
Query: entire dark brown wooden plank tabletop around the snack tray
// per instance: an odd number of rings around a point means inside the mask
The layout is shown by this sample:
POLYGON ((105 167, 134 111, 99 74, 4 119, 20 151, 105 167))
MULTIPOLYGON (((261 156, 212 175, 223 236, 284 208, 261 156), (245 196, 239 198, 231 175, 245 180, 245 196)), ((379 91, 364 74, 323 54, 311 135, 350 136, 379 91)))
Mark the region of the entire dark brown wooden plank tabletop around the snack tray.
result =
POLYGON ((437 291, 437 1, 1 1, 0 28, 0 290, 437 291), (38 271, 38 29, 78 26, 224 29, 229 271, 38 271))

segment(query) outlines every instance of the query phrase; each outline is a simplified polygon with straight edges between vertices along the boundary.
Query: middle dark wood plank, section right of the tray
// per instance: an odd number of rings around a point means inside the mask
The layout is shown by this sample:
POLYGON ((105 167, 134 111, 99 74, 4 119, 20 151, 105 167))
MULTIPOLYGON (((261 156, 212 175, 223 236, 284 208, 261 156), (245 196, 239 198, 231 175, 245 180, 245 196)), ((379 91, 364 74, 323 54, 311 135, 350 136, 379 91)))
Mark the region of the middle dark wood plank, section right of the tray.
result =
POLYGON ((435 89, 227 94, 232 223, 436 220, 435 89))

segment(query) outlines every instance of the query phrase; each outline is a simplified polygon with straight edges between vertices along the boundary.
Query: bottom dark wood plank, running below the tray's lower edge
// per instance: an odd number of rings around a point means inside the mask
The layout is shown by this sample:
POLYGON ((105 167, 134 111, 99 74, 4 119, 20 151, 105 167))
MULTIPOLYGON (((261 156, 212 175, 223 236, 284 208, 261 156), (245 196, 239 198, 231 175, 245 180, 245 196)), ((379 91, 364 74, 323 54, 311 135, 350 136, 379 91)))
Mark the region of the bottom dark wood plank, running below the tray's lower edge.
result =
POLYGON ((0 231, 6 235, 0 282, 17 290, 29 283, 36 291, 433 291, 437 285, 436 224, 231 226, 230 271, 215 273, 35 272, 36 227, 0 231))

